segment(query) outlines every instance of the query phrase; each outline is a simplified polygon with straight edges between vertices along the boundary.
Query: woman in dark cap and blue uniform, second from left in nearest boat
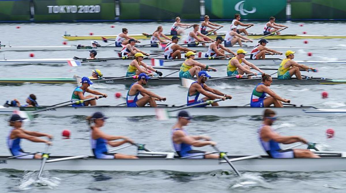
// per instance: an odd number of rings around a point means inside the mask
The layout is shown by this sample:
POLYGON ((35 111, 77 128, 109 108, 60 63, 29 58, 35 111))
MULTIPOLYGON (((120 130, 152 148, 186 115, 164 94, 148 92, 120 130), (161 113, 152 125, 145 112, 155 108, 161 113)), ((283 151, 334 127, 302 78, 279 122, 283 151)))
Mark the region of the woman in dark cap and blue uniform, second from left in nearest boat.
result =
POLYGON ((92 116, 86 118, 88 125, 91 128, 91 148, 92 153, 96 159, 136 159, 137 156, 125 155, 125 154, 108 154, 107 144, 112 147, 118 147, 122 144, 129 143, 134 144, 133 140, 125 136, 113 136, 105 134, 101 127, 104 126, 104 122, 108 117, 105 117, 101 112, 95 112, 92 116), (94 123, 94 125, 91 125, 94 123), (122 141, 113 141, 122 139, 122 141))

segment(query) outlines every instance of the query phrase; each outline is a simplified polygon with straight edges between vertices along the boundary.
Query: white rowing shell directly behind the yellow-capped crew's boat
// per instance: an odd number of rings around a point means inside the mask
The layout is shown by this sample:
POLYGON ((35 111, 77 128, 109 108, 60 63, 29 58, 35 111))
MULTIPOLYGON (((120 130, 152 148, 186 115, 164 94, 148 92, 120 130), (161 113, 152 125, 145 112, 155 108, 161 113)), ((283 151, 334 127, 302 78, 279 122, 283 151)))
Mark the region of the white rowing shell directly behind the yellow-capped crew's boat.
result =
MULTIPOLYGON (((164 58, 155 58, 155 59, 161 59, 164 63, 163 66, 180 66, 183 62, 183 60, 165 60, 164 58)), ((111 59, 108 58, 98 58, 97 62, 93 62, 92 59, 86 59, 86 58, 44 58, 44 59, 6 59, 6 60, 0 60, 0 64, 2 65, 17 65, 17 64, 67 64, 67 61, 80 61, 87 63, 83 64, 119 64, 119 65, 129 65, 132 59, 111 59), (100 59, 102 59, 100 61, 100 59)), ((228 60, 222 60, 222 59, 198 59, 197 60, 200 63, 207 64, 207 65, 227 65, 228 60)), ((282 59, 280 58, 266 58, 266 59, 260 59, 260 60, 252 60, 248 59, 249 62, 255 64, 255 65, 277 65, 281 64, 282 59)), ((152 64, 152 61, 150 58, 144 58, 143 62, 145 62, 148 65, 152 64)), ((300 64, 346 64, 346 61, 295 61, 300 64)))

